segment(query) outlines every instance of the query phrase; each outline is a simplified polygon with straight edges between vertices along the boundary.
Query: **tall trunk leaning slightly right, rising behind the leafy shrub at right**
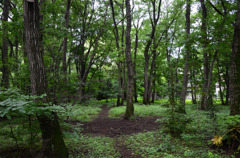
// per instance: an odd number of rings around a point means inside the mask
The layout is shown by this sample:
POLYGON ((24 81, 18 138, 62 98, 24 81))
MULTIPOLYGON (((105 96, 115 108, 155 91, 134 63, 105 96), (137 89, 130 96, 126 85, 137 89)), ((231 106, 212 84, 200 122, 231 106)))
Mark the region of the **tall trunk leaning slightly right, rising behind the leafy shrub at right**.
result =
POLYGON ((190 12, 191 12, 191 1, 186 0, 187 9, 186 9, 186 54, 185 54, 185 66, 184 66, 184 72, 183 72, 183 84, 182 84, 182 91, 181 91, 181 99, 180 99, 180 107, 179 112, 186 113, 185 110, 185 100, 187 95, 187 85, 188 85, 188 69, 189 69, 189 54, 190 54, 190 41, 189 41, 189 35, 190 35, 190 12))

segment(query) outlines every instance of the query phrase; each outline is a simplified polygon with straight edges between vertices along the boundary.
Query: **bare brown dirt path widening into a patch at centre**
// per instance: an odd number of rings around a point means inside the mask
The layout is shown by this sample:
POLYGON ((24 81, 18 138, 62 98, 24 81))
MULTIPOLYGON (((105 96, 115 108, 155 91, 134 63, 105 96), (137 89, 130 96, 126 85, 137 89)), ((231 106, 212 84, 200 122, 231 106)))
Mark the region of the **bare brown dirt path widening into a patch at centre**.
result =
POLYGON ((132 155, 132 151, 119 136, 157 130, 159 124, 155 120, 159 117, 139 117, 134 120, 112 119, 108 118, 109 110, 103 106, 98 118, 83 123, 83 133, 115 138, 115 149, 120 152, 122 158, 141 158, 140 155, 132 155))

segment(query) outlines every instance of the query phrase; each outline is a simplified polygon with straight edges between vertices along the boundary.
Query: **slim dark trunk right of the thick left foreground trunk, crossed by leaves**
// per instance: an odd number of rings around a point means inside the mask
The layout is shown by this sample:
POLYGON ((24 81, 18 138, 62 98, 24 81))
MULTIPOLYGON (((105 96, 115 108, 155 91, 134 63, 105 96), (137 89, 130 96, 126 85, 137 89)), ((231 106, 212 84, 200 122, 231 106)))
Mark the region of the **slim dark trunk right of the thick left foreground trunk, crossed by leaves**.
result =
MULTIPOLYGON (((71 5, 71 0, 67 0, 67 6, 66 6, 66 12, 65 12, 65 28, 68 29, 68 25, 69 25, 69 14, 70 14, 70 5, 71 5)), ((63 69, 63 74, 64 74, 64 78, 66 79, 66 75, 67 75, 67 34, 64 37, 63 40, 63 56, 62 56, 62 61, 63 61, 63 65, 62 65, 62 69, 63 69)))

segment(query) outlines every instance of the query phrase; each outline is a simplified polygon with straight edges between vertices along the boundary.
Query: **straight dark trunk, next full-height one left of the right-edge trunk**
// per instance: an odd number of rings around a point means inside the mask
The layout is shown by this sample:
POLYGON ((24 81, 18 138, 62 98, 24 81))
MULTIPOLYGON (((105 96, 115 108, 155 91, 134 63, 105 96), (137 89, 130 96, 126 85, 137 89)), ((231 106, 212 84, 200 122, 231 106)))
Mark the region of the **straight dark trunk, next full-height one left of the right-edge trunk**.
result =
POLYGON ((206 109, 207 105, 205 105, 205 99, 206 99, 206 91, 207 91, 207 85, 208 85, 208 74, 209 74, 209 64, 208 64, 208 53, 207 53, 207 8, 205 6, 205 1, 200 0, 201 2, 201 8, 202 8, 202 45, 203 45, 203 86, 202 86, 202 98, 201 98, 201 109, 206 109))

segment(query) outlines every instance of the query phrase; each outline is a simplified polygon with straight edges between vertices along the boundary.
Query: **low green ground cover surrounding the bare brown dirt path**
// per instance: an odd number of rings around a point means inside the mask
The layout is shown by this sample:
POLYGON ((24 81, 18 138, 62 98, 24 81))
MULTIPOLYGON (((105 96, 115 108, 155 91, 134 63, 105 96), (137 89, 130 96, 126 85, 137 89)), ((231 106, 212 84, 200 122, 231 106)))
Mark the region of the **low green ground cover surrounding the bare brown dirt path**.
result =
MULTIPOLYGON (((86 122, 96 118, 101 110, 100 106, 106 104, 111 107, 115 104, 114 99, 103 101, 92 101, 86 105, 69 106, 65 114, 60 115, 61 120, 69 116, 71 121, 86 122)), ((190 122, 186 124, 186 130, 179 136, 174 137, 169 134, 164 126, 164 118, 168 117, 170 108, 163 106, 166 100, 157 101, 153 105, 135 104, 135 116, 163 116, 160 130, 125 135, 120 138, 95 137, 83 135, 81 123, 69 124, 61 122, 64 132, 64 139, 69 148, 70 158, 80 157, 121 157, 116 150, 116 141, 121 139, 124 144, 131 149, 133 155, 142 155, 148 158, 224 158, 234 157, 234 154, 227 155, 224 151, 213 150, 210 141, 215 135, 222 135, 227 131, 229 116, 229 106, 215 105, 212 110, 201 111, 197 105, 187 101, 186 117, 190 122), (213 113, 213 111, 215 111, 213 113)), ((109 117, 121 118, 125 113, 125 106, 113 107, 109 111, 109 117)), ((19 145, 29 148, 29 129, 27 117, 13 118, 11 120, 13 133, 17 136, 19 145)), ((40 131, 37 121, 33 122, 35 133, 35 146, 40 146, 40 131)), ((11 130, 6 121, 0 122, 0 151, 16 147, 16 143, 11 136, 11 130)), ((1 156, 1 155, 0 155, 1 156)))

